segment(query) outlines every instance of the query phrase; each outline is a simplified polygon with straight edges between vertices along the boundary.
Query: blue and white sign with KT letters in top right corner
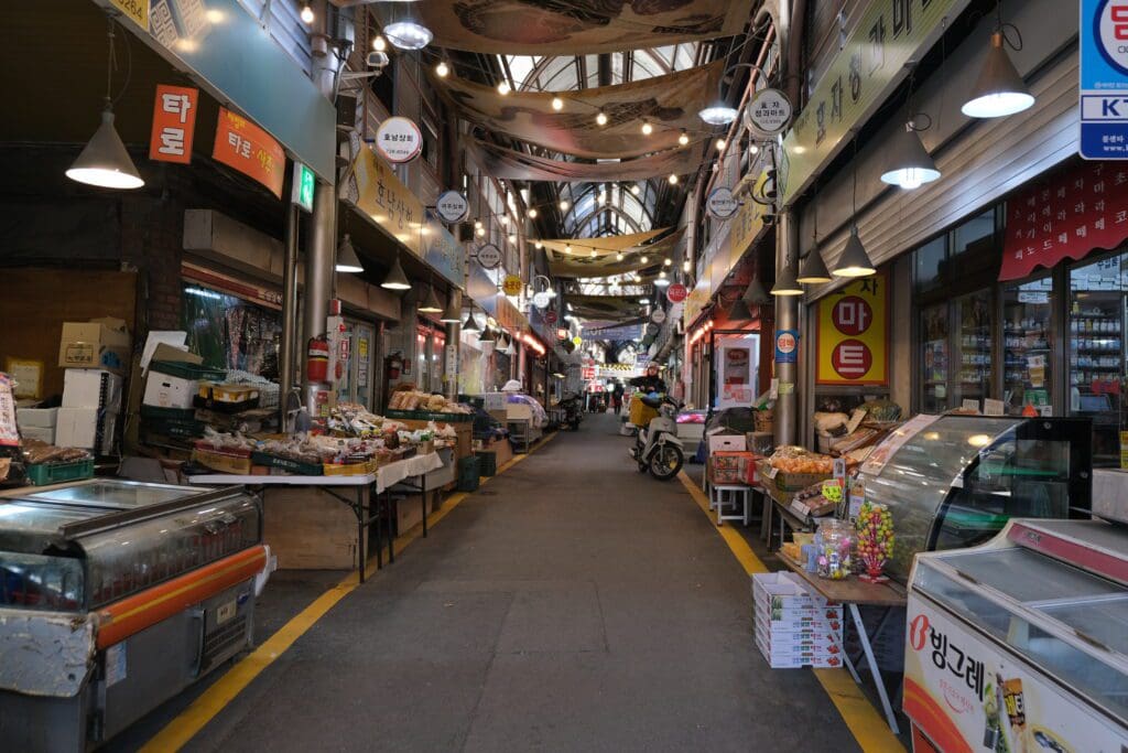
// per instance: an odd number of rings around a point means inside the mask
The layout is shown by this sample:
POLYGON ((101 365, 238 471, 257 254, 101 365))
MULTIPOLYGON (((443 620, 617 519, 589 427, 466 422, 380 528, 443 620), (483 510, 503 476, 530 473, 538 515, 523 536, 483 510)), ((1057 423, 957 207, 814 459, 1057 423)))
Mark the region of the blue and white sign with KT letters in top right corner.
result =
POLYGON ((1128 159, 1128 0, 1081 0, 1081 156, 1128 159))

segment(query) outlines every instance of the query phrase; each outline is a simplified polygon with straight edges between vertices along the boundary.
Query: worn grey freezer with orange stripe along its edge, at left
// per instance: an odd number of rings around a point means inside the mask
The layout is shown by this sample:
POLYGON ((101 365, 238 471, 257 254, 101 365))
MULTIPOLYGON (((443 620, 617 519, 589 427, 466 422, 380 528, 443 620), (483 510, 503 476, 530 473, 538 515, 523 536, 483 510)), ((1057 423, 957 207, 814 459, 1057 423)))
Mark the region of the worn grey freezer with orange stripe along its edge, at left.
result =
POLYGON ((90 480, 0 498, 0 748, 97 747, 248 648, 262 509, 90 480))

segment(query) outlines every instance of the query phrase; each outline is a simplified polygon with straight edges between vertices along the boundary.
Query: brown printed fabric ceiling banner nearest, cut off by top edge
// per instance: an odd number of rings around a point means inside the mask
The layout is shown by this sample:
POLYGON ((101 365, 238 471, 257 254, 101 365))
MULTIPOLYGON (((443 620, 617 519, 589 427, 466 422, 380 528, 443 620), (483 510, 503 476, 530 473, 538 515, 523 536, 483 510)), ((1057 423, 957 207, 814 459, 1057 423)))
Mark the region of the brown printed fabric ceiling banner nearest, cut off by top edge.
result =
POLYGON ((434 46, 486 54, 580 55, 740 34, 751 0, 429 0, 434 46))

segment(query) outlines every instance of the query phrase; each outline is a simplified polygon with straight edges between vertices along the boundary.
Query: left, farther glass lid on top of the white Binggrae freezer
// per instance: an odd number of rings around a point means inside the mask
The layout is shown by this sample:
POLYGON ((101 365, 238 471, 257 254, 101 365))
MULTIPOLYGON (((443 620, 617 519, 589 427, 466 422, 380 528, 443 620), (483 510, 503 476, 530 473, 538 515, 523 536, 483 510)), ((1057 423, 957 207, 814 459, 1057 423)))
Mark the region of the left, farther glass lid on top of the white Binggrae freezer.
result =
POLYGON ((945 563, 1023 603, 1123 593, 1111 581, 1022 548, 968 552, 945 563))

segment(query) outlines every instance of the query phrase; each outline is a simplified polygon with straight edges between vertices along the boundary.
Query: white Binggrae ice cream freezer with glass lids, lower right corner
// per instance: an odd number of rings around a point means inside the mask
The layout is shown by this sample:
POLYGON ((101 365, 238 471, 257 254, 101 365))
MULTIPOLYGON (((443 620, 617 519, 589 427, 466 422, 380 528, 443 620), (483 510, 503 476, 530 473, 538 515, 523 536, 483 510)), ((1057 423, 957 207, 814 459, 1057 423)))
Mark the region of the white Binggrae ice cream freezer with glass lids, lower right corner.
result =
POLYGON ((917 558, 905 712, 914 750, 1128 745, 1128 528, 1013 519, 989 544, 917 558))

